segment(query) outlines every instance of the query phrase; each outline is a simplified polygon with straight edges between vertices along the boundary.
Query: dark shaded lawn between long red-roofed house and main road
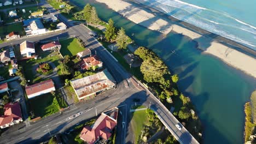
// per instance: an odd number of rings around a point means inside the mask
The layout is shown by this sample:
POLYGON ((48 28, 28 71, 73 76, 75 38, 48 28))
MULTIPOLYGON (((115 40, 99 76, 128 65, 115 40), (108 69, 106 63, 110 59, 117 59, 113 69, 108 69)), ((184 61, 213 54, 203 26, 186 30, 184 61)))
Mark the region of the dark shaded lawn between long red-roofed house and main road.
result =
POLYGON ((59 106, 54 101, 51 93, 46 93, 29 100, 30 110, 34 117, 46 117, 53 113, 59 112, 59 106))

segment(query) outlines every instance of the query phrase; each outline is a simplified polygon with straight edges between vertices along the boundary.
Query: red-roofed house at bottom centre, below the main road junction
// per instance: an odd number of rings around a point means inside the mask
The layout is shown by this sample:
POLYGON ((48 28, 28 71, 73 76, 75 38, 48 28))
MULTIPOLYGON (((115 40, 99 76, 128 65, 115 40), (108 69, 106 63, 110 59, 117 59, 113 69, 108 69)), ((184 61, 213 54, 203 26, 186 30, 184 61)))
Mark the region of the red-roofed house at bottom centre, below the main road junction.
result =
POLYGON ((117 126, 117 117, 117 107, 107 112, 102 112, 94 124, 90 127, 86 125, 83 128, 79 136, 80 139, 88 144, 94 144, 100 141, 100 139, 106 142, 111 137, 113 129, 117 126))

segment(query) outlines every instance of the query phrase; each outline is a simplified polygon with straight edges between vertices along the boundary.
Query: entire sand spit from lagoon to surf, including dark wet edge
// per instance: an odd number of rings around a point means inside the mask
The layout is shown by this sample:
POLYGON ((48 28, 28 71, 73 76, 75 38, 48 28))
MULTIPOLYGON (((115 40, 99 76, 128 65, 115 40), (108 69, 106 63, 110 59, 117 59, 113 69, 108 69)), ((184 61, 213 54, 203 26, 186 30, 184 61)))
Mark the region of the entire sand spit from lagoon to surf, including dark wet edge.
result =
POLYGON ((170 32, 183 34, 191 40, 196 41, 198 44, 196 49, 200 49, 202 53, 213 55, 231 67, 256 78, 256 51, 244 45, 187 22, 180 21, 157 9, 141 4, 136 0, 95 1, 106 4, 108 8, 117 11, 120 15, 153 31, 163 34, 170 32))

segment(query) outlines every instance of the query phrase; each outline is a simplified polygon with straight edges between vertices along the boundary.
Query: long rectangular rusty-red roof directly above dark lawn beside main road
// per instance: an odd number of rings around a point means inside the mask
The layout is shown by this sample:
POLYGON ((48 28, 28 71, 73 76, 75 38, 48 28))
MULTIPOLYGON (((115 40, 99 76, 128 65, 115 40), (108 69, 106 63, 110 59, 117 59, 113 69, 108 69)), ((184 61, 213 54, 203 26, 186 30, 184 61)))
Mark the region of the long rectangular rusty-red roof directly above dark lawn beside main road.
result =
POLYGON ((54 87, 54 82, 53 80, 50 79, 50 80, 36 83, 31 86, 27 86, 25 87, 25 89, 26 89, 27 95, 31 95, 31 94, 42 92, 46 89, 53 88, 53 87, 54 87))

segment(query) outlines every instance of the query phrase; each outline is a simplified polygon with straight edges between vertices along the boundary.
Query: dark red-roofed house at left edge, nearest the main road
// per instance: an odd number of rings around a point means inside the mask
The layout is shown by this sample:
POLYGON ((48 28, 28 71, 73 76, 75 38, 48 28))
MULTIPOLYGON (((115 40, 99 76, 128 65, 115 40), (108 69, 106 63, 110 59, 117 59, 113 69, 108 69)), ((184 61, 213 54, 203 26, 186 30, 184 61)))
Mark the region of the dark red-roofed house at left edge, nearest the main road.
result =
POLYGON ((23 122, 20 104, 17 103, 8 103, 4 105, 4 115, 0 116, 0 128, 7 128, 11 125, 18 124, 23 122))

